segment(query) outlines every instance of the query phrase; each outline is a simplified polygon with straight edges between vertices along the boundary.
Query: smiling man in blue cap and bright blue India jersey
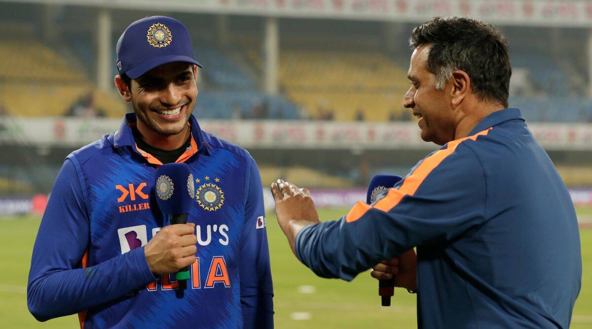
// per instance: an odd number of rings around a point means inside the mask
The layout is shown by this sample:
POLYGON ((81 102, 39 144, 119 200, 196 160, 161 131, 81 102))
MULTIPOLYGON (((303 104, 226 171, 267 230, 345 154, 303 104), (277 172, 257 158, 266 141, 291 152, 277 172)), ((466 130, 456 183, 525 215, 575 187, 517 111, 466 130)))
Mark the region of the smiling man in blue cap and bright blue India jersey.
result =
POLYGON ((173 18, 143 18, 120 37, 115 85, 134 113, 70 154, 56 178, 27 289, 37 320, 79 312, 86 328, 273 327, 259 171, 191 114, 198 67, 173 18), (154 199, 156 168, 170 162, 194 178, 188 224, 169 225, 154 199))

